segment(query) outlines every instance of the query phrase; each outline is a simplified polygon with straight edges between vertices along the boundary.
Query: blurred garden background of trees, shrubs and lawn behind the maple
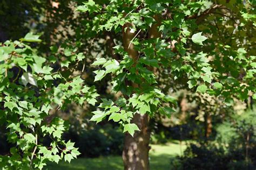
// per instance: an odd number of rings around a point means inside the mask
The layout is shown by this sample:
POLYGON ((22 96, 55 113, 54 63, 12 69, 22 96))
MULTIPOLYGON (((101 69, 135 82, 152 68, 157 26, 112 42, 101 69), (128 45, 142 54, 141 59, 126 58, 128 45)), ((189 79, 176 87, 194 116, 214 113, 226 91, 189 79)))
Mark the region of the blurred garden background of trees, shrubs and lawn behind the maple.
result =
MULTIPOLYGON (((93 31, 95 23, 90 23, 86 14, 75 11, 77 4, 82 1, 1 0, 0 42, 22 38, 28 32, 39 33, 43 43, 38 51, 45 57, 51 57, 51 52, 62 55, 63 46, 76 45, 86 60, 66 74, 75 76, 85 69, 82 77, 86 84, 95 85, 100 96, 118 98, 120 94, 109 90, 111 77, 93 82, 90 63, 96 56, 117 55, 112 47, 121 40, 111 32, 97 35, 93 31)), ((256 109, 252 98, 224 104, 222 98, 194 94, 186 87, 187 81, 180 81, 178 86, 173 81, 168 72, 159 73, 160 86, 165 82, 165 93, 178 98, 178 107, 170 117, 159 115, 150 119, 151 169, 255 169, 256 109)), ((82 154, 71 164, 60 162, 48 169, 123 169, 124 134, 113 122, 90 122, 95 109, 89 104, 83 108, 70 104, 65 112, 53 113, 69 122, 70 130, 64 139, 75 141, 82 154)), ((0 122, 0 154, 8 153, 11 147, 4 127, 0 122)))

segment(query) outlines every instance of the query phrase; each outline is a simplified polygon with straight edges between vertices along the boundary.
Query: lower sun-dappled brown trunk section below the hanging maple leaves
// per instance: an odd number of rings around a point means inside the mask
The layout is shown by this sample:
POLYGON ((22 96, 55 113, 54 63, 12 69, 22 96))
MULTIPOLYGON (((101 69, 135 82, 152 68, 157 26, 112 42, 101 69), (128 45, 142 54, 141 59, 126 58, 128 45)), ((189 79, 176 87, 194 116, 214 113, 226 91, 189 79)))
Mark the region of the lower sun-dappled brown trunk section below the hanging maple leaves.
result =
POLYGON ((149 168, 149 141, 148 115, 134 115, 132 122, 137 124, 140 131, 136 131, 132 137, 125 134, 123 161, 125 170, 146 170, 149 168))

